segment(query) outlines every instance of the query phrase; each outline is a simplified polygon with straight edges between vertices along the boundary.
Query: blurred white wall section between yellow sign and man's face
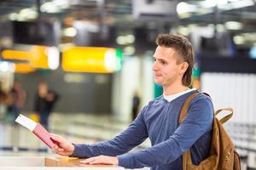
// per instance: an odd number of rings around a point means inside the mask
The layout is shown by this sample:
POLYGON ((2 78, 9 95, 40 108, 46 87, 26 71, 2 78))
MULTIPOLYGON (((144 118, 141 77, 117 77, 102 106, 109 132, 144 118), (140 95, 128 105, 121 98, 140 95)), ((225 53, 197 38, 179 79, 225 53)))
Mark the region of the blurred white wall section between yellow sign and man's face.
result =
POLYGON ((141 108, 153 99, 154 77, 151 66, 152 59, 126 57, 122 71, 114 74, 112 108, 119 120, 131 121, 131 100, 135 91, 141 97, 141 108))

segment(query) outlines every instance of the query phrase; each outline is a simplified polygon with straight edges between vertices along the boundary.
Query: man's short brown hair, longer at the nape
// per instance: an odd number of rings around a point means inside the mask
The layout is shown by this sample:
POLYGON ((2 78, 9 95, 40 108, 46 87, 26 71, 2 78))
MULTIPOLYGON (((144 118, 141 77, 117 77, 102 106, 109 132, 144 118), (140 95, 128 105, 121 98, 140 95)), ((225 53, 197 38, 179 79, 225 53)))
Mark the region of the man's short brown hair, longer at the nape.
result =
POLYGON ((181 57, 177 58, 177 63, 187 62, 189 67, 183 74, 183 85, 190 86, 192 82, 192 73, 194 67, 194 49, 191 42, 186 37, 177 34, 160 34, 155 43, 165 48, 174 48, 181 57))

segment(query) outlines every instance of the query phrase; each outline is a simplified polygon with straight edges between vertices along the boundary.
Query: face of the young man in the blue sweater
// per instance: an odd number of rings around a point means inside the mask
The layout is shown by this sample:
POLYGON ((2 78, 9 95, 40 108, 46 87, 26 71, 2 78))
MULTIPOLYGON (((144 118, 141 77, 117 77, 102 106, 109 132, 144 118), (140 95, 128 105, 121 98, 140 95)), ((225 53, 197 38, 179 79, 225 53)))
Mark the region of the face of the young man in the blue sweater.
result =
POLYGON ((154 52, 154 82, 164 88, 172 85, 173 82, 181 81, 183 73, 181 65, 177 64, 174 48, 158 46, 154 52))

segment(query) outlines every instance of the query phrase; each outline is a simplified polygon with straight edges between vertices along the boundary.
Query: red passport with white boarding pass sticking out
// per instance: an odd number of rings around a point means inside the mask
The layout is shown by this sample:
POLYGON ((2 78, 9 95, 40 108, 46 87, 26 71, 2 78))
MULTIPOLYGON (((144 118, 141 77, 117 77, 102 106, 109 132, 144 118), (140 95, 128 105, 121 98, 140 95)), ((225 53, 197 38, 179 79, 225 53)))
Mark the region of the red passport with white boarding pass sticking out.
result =
POLYGON ((49 132, 40 123, 33 122, 30 118, 21 114, 16 118, 15 122, 20 123, 20 125, 32 131, 32 133, 34 133, 39 139, 41 139, 44 144, 48 145, 50 149, 53 148, 54 143, 50 139, 49 132))

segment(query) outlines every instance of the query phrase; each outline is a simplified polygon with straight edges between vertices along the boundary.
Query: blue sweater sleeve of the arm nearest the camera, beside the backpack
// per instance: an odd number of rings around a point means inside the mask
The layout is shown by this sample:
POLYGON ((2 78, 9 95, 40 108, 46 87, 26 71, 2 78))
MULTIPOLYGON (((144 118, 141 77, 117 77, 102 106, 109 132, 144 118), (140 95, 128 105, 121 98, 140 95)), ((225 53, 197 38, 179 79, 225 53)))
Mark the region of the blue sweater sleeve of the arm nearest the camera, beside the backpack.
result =
POLYGON ((183 123, 169 139, 148 149, 118 156, 119 166, 125 168, 159 166, 175 161, 189 150, 197 139, 212 129, 213 120, 211 99, 203 96, 193 100, 183 123))

